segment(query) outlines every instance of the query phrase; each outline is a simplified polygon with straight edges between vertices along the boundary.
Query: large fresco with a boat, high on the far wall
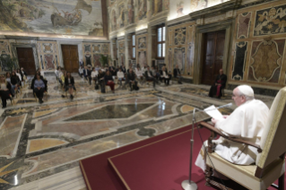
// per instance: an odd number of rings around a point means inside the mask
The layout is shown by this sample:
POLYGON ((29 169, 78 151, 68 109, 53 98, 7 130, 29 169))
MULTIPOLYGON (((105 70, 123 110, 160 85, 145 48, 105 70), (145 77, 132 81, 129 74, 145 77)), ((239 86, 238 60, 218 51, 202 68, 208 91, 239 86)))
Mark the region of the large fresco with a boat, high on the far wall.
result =
POLYGON ((0 1, 0 30, 104 36, 101 1, 0 1))

